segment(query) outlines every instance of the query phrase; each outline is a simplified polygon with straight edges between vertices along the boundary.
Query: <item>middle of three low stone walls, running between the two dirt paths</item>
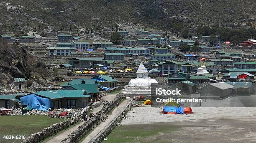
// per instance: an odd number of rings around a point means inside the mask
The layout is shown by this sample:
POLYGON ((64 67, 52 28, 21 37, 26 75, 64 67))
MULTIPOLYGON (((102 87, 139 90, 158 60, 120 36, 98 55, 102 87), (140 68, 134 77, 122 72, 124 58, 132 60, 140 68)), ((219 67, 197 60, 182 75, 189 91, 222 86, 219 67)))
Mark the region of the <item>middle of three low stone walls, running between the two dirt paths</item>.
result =
POLYGON ((120 102, 122 99, 126 99, 123 94, 118 94, 115 99, 108 104, 104 105, 102 109, 96 113, 90 120, 86 121, 84 124, 79 126, 75 131, 69 134, 61 143, 77 143, 81 138, 83 138, 87 133, 89 133, 93 128, 95 128, 101 121, 105 121, 108 118, 108 113, 115 108, 116 103, 120 102))

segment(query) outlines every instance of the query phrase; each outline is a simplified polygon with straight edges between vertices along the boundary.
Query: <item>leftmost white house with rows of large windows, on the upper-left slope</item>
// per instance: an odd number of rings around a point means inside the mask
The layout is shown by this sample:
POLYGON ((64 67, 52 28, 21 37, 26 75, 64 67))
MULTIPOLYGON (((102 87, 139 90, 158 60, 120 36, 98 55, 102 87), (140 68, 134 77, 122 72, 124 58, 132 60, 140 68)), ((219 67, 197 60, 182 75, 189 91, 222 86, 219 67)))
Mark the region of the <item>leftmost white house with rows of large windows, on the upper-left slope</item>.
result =
MULTIPOLYGON (((74 50, 74 49, 73 49, 74 50)), ((62 55, 62 56, 70 56, 71 48, 70 47, 48 47, 49 55, 62 55)))

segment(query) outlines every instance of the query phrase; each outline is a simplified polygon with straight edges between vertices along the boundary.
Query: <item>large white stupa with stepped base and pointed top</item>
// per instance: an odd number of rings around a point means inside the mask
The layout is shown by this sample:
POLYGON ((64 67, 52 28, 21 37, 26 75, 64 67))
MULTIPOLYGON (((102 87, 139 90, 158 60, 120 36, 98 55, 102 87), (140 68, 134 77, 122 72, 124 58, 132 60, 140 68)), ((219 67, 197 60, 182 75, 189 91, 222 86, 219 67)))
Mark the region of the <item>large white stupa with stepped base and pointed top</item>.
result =
POLYGON ((137 72, 137 77, 131 79, 129 84, 124 87, 123 94, 133 97, 137 95, 150 95, 151 84, 158 84, 156 79, 150 79, 148 77, 148 71, 143 64, 140 64, 137 72))

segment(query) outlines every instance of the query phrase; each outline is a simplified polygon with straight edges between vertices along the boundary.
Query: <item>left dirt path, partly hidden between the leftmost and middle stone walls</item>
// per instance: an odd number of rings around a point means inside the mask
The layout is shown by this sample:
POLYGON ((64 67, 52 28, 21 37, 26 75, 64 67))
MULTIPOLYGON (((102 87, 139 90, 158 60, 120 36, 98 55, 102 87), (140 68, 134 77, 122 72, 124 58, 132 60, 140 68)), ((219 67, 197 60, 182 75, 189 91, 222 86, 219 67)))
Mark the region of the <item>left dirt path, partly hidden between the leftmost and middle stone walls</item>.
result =
MULTIPOLYGON (((117 94, 107 94, 106 96, 103 96, 103 99, 104 100, 108 100, 109 102, 112 101, 113 99, 115 99, 115 96, 117 94)), ((103 105, 101 106, 98 106, 94 109, 92 109, 92 113, 96 114, 98 111, 101 110, 103 105)), ((77 124, 76 126, 74 127, 71 127, 69 129, 67 129, 66 131, 64 131, 63 133, 61 134, 57 134, 56 136, 52 137, 50 140, 44 142, 44 143, 60 143, 64 138, 67 138, 67 136, 72 133, 73 131, 75 131, 79 126, 80 124, 82 125, 83 122, 77 124)))

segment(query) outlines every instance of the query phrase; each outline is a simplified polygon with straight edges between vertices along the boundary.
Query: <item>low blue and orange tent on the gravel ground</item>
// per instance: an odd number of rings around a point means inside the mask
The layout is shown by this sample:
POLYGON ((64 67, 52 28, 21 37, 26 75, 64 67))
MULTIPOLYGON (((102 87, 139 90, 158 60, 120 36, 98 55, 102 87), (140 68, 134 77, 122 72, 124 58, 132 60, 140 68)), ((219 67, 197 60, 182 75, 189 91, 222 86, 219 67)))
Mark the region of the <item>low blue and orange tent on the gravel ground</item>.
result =
POLYGON ((184 113, 193 113, 193 112, 190 107, 164 106, 162 113, 164 113, 164 114, 184 114, 184 113))

